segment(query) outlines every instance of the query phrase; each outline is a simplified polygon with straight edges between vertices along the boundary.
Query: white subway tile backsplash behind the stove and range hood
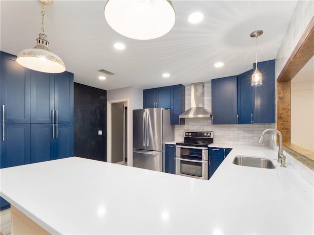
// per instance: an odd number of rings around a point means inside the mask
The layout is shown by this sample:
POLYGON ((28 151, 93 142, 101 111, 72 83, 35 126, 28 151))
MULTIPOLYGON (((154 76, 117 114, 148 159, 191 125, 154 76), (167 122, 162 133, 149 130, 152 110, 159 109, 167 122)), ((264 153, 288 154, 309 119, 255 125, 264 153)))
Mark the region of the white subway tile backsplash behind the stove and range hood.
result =
MULTIPOLYGON (((191 86, 185 86, 185 110, 191 107, 191 86)), ((211 112, 211 82, 204 83, 204 107, 211 112)), ((215 143, 257 145, 262 132, 275 124, 212 125, 211 118, 186 118, 185 125, 175 126, 175 141, 183 141, 184 130, 213 131, 215 143)), ((270 145, 265 135, 263 145, 270 145)))

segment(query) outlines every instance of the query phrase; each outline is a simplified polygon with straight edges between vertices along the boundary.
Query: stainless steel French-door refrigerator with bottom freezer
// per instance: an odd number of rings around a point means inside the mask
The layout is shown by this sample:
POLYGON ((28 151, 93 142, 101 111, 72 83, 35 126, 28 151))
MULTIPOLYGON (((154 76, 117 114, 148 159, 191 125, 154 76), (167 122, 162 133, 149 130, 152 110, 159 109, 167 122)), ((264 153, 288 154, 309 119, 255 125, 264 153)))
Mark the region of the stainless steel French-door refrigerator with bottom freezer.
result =
POLYGON ((164 171, 165 142, 173 140, 170 110, 133 110, 133 166, 164 171))

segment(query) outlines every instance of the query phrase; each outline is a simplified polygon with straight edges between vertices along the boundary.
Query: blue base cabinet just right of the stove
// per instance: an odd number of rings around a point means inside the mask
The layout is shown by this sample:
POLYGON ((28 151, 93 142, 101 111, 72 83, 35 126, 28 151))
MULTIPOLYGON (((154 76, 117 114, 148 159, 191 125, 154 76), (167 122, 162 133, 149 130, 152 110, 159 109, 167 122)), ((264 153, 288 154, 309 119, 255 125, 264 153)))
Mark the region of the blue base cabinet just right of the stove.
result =
POLYGON ((213 147, 208 148, 209 178, 213 175, 218 166, 224 161, 224 159, 227 157, 231 150, 232 150, 231 148, 213 148, 213 147))

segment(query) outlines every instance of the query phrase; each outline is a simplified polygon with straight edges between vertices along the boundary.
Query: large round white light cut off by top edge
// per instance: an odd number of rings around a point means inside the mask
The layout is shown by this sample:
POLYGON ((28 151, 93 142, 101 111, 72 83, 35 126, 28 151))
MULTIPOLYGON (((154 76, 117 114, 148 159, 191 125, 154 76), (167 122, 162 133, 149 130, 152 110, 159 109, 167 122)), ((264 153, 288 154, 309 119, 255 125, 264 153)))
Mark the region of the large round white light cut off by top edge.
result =
POLYGON ((104 14, 113 30, 138 40, 165 35, 176 20, 170 0, 107 0, 104 14))

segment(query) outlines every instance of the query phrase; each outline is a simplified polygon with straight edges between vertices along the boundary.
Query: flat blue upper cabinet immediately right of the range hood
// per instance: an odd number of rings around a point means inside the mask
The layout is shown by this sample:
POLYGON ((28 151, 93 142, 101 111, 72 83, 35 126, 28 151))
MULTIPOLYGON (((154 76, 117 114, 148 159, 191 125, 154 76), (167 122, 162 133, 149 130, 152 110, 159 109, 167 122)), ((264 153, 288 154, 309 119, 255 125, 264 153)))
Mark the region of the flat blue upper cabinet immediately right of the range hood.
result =
POLYGON ((236 76, 211 80, 213 124, 236 124, 236 76))

